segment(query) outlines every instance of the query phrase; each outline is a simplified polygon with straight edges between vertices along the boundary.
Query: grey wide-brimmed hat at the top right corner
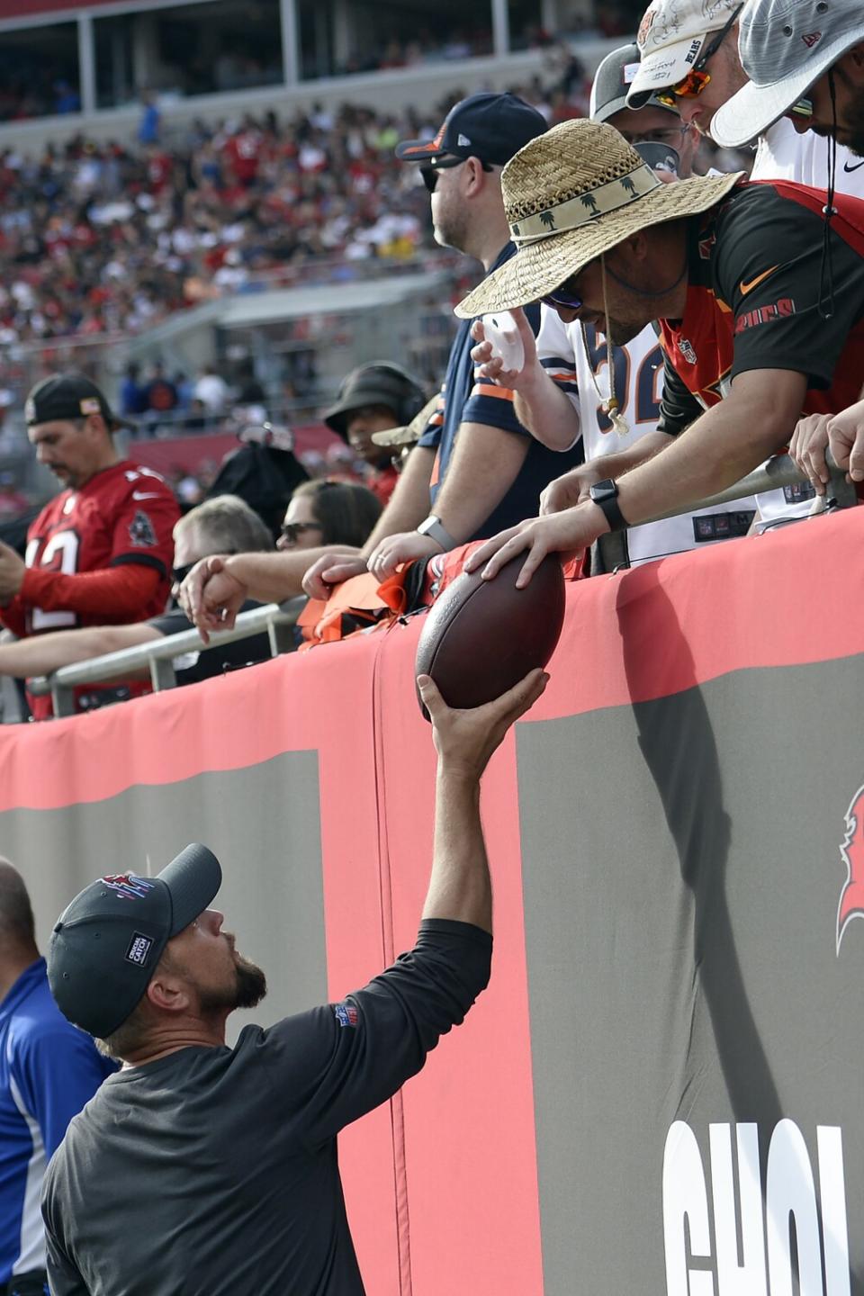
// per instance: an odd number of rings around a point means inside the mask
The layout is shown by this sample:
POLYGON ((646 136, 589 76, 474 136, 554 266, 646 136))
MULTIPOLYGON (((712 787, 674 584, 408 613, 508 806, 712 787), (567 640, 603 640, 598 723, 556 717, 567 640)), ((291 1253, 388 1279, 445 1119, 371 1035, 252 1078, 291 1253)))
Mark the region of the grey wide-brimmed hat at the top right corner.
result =
POLYGON ((754 140, 861 40, 861 0, 751 0, 738 36, 750 80, 714 114, 712 139, 724 148, 754 140))

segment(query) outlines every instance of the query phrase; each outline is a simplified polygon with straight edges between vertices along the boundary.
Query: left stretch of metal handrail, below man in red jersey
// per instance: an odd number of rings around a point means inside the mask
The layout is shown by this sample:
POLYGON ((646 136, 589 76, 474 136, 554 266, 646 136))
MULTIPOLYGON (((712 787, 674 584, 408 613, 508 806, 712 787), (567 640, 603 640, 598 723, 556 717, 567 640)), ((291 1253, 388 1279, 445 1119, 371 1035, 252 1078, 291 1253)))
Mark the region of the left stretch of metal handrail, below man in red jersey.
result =
POLYGON ((206 652, 211 645, 247 639, 263 630, 269 636, 271 657, 277 657, 294 647, 291 631, 304 604, 304 597, 290 599, 285 604, 266 603, 250 612, 241 612, 231 630, 219 630, 211 634, 210 644, 202 643, 197 630, 181 630, 180 634, 166 635, 163 639, 146 644, 136 644, 133 648, 122 648, 119 652, 104 653, 101 657, 91 657, 88 661, 79 661, 71 666, 61 666, 51 675, 39 675, 31 679, 27 688, 36 696, 51 693, 54 715, 73 715, 75 709, 74 689, 79 684, 102 684, 109 679, 128 679, 131 671, 148 667, 154 692, 159 692, 162 688, 174 688, 177 682, 172 665, 175 657, 188 652, 206 652))

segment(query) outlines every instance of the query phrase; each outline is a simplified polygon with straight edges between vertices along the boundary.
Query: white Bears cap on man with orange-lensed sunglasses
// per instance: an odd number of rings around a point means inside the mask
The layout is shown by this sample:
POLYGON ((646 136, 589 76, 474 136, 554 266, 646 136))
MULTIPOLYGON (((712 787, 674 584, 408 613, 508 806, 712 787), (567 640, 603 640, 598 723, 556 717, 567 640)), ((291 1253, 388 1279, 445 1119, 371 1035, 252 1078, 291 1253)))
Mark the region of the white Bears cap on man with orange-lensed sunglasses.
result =
POLYGON ((654 91, 684 80, 711 36, 742 8, 742 0, 652 0, 639 25, 640 64, 627 106, 644 108, 654 91))

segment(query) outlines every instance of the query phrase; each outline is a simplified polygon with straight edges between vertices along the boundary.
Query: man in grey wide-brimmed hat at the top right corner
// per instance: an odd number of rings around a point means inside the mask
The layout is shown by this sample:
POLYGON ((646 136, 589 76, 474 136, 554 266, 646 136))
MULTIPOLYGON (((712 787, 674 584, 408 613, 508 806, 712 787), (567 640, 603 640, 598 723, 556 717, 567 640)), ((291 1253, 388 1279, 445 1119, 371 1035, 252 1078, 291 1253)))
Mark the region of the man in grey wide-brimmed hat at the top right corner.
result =
MULTIPOLYGON (((834 188, 845 191, 850 174, 860 180, 864 161, 855 161, 864 159, 860 3, 754 0, 741 18, 738 52, 750 80, 716 114, 715 137, 737 144, 767 128, 776 130, 789 118, 801 133, 812 132, 829 141, 834 153, 829 194, 834 188), (845 149, 854 157, 845 157, 845 149)), ((829 480, 825 439, 848 480, 864 482, 864 400, 833 419, 804 422, 797 435, 804 441, 797 457, 820 494, 829 480)))

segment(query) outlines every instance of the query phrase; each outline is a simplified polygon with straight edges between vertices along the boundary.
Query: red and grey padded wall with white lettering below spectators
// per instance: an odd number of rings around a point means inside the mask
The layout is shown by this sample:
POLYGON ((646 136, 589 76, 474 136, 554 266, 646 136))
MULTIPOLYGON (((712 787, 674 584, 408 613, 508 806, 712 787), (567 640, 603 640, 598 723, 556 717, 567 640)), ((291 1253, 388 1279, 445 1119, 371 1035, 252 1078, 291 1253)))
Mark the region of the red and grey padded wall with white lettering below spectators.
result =
MULTIPOLYGON (((484 784, 490 989, 342 1135, 369 1291, 864 1292, 863 527, 569 587, 549 688, 484 784)), ((268 973, 259 1020, 409 947, 421 619, 0 732, 40 934, 100 871, 201 840, 268 973)))

